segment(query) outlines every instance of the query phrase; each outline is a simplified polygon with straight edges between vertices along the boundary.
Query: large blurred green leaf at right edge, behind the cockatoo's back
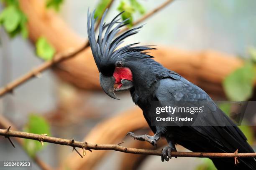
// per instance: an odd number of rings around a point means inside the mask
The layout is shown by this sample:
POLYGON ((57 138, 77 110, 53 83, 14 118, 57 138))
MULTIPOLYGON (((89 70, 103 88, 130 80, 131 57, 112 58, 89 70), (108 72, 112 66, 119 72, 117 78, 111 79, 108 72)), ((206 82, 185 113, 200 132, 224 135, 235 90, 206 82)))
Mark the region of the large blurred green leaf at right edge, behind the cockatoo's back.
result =
POLYGON ((244 101, 251 97, 256 72, 251 62, 225 77, 223 87, 227 97, 233 101, 244 101))

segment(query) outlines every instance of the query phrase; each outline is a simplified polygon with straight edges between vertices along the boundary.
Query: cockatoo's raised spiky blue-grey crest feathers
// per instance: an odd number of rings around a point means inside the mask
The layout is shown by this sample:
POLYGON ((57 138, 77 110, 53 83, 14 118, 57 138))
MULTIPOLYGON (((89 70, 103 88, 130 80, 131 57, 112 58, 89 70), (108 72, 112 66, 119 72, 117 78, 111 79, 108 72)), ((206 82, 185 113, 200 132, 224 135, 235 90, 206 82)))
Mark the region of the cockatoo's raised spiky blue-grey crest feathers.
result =
POLYGON ((104 19, 107 14, 107 11, 108 9, 105 10, 104 14, 102 15, 97 41, 96 41, 95 30, 94 30, 95 21, 97 20, 97 18, 94 19, 95 10, 92 13, 90 13, 88 9, 88 15, 87 15, 87 34, 88 34, 90 46, 92 49, 92 54, 98 69, 103 61, 109 61, 117 57, 125 57, 128 55, 137 56, 138 54, 140 55, 143 54, 144 57, 152 57, 151 55, 147 55, 146 54, 147 52, 145 52, 145 50, 152 50, 155 48, 151 48, 149 46, 134 46, 139 42, 126 45, 116 50, 116 48, 121 43, 123 43, 123 40, 126 37, 129 37, 131 35, 138 33, 139 29, 142 28, 142 26, 130 29, 124 32, 123 34, 118 35, 118 37, 114 38, 115 35, 117 35, 118 32, 120 31, 120 28, 125 26, 126 25, 125 22, 129 19, 120 21, 120 15, 124 12, 123 11, 118 15, 116 15, 115 18, 113 18, 113 20, 111 20, 110 23, 106 24, 104 23, 104 19), (116 26, 114 27, 114 25, 116 26), (105 34, 104 34, 104 31, 105 31, 105 34))

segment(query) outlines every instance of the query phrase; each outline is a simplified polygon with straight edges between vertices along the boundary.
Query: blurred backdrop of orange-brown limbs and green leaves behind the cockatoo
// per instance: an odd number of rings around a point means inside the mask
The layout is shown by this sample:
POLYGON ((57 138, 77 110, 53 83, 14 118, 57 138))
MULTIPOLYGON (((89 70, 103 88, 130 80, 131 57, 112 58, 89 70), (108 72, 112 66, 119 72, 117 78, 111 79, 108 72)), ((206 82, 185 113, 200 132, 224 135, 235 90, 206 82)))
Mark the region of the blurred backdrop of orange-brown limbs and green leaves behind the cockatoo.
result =
MULTIPOLYGON (((54 54, 68 54, 87 41, 87 9, 106 7, 110 21, 120 11, 136 22, 166 0, 3 0, 0 5, 0 86, 37 68, 54 54), (9 24, 9 25, 8 25, 9 24)), ((256 63, 255 0, 174 0, 143 20, 141 31, 123 45, 141 42, 157 45, 151 55, 205 90, 214 100, 255 100, 256 63)), ((133 26, 130 23, 129 27, 133 26)), ((151 131, 130 94, 121 100, 105 95, 98 71, 86 48, 78 55, 37 74, 0 97, 0 128, 10 121, 18 130, 88 143, 156 149, 125 134, 151 131), (39 127, 39 128, 38 128, 39 127)), ((229 105, 222 105, 229 114, 229 105)), ((256 121, 250 117, 251 124, 256 121)), ((241 126, 255 145, 255 128, 241 126)), ((160 157, 115 151, 87 152, 82 159, 72 148, 23 140, 13 148, 0 138, 0 160, 36 160, 33 169, 175 169, 211 170, 204 158, 177 158, 162 163, 160 157), (40 161, 38 161, 40 160, 40 161), (40 163, 39 163, 40 162, 40 163), (51 168, 49 168, 51 169, 51 168)), ((158 149, 166 145, 160 141, 158 149)), ((188 151, 177 146, 178 151, 188 151)), ((79 150, 82 152, 82 150, 79 150)), ((10 168, 8 168, 10 169, 10 168)))

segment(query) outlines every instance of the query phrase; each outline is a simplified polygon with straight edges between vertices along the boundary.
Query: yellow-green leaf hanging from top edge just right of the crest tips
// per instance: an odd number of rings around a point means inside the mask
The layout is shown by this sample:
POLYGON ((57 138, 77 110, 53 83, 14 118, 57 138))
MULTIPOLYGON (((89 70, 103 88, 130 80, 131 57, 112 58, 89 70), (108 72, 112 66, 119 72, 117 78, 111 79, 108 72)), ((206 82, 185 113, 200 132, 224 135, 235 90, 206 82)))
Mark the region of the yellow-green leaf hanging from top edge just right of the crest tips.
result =
POLYGON ((127 20, 125 22, 125 24, 128 24, 128 26, 131 27, 132 23, 133 23, 133 16, 132 16, 132 14, 135 12, 134 8, 131 5, 129 5, 128 3, 126 3, 125 1, 121 1, 120 5, 118 6, 118 10, 120 12, 125 11, 122 14, 122 19, 126 20, 126 19, 129 18, 129 20, 127 20))

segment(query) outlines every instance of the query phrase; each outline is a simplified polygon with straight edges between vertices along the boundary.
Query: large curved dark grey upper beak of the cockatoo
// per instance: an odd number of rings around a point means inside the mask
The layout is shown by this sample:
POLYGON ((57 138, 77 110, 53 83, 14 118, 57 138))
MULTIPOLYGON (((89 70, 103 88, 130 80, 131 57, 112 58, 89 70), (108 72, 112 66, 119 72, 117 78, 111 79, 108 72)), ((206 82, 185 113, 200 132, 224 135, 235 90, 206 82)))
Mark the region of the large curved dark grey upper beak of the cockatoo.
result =
POLYGON ((115 84, 115 77, 113 76, 105 76, 100 72, 100 86, 104 90, 107 95, 112 97, 113 99, 118 99, 114 93, 114 84, 115 84))

